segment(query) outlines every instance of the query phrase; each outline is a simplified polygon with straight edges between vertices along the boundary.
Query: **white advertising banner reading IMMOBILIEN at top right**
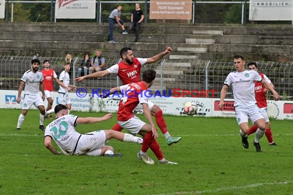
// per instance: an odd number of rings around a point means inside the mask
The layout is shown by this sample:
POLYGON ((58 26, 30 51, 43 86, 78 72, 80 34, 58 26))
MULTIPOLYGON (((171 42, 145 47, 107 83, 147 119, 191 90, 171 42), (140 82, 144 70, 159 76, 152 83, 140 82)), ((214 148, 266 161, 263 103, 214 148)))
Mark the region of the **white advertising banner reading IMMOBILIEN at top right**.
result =
POLYGON ((291 21, 292 0, 250 0, 250 21, 291 21))

